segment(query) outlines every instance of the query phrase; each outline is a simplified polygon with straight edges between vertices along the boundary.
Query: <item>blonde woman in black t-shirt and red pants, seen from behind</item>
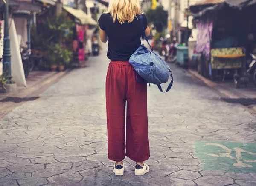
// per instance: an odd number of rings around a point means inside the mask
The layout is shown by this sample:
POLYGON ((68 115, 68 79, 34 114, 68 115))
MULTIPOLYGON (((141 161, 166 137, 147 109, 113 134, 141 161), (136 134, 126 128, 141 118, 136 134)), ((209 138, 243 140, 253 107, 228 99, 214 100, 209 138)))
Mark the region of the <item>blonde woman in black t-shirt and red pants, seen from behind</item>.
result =
MULTIPOLYGON (((111 60, 106 79, 108 158, 115 161, 113 172, 120 176, 124 173, 125 156, 136 162, 135 175, 142 176, 149 171, 144 163, 150 157, 147 85, 137 82, 128 62, 141 44, 139 14, 142 14, 139 0, 112 0, 108 11, 99 18, 100 38, 104 43, 108 41, 107 56, 111 60)), ((145 14, 143 24, 148 36, 145 14)))

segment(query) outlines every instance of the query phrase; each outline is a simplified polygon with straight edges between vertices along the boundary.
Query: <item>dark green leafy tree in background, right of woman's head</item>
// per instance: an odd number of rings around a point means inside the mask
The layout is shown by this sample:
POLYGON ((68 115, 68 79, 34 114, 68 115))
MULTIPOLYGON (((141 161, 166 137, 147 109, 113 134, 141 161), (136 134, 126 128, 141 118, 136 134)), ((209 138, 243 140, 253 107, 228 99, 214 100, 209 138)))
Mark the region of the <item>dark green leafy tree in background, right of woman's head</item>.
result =
POLYGON ((148 23, 153 24, 157 32, 162 32, 167 26, 168 11, 163 9, 163 6, 157 6, 156 9, 148 9, 146 11, 148 23))

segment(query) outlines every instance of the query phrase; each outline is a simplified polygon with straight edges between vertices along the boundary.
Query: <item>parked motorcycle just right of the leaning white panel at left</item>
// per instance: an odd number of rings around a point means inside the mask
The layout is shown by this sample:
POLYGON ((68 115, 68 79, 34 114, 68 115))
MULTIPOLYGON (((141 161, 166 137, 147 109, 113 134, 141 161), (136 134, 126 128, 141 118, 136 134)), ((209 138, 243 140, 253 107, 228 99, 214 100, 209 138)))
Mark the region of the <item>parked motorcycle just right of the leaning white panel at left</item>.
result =
POLYGON ((31 49, 20 47, 20 54, 21 54, 25 78, 27 79, 29 77, 29 72, 31 72, 34 68, 34 63, 30 58, 31 49))

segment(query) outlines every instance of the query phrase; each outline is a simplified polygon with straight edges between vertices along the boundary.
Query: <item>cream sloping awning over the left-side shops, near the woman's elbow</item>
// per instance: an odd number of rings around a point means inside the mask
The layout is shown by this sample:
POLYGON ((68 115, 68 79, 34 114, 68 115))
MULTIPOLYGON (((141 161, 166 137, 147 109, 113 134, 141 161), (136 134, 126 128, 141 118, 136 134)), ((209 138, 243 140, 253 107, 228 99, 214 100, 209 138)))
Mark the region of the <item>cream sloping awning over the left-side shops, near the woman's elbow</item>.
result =
POLYGON ((76 17, 76 21, 81 25, 97 25, 98 23, 93 18, 89 17, 84 11, 81 9, 73 9, 69 6, 63 6, 67 12, 76 17))

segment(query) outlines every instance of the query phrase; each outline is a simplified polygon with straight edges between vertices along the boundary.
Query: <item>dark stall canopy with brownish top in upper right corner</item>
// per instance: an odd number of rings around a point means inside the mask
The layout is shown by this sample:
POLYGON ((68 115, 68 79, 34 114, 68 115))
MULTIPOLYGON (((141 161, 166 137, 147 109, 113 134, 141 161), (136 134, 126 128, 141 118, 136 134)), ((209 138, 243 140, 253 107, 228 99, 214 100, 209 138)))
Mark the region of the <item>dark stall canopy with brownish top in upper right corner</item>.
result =
POLYGON ((189 7, 194 17, 200 17, 212 11, 218 11, 225 7, 242 9, 246 6, 256 4, 256 0, 204 0, 189 7))

